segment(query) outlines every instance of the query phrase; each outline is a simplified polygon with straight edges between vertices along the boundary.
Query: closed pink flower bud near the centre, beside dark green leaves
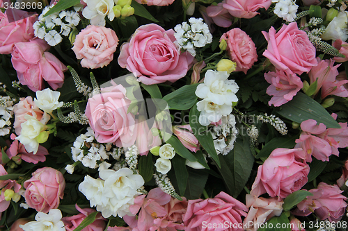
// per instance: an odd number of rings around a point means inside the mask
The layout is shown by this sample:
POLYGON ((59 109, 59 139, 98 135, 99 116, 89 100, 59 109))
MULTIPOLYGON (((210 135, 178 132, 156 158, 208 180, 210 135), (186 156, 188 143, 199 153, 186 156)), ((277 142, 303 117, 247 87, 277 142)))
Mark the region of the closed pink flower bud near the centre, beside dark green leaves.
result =
POLYGON ((189 149, 189 151, 196 153, 196 151, 199 150, 198 139, 193 135, 191 126, 189 124, 173 126, 173 133, 177 136, 177 138, 179 138, 180 142, 182 142, 182 144, 189 149))

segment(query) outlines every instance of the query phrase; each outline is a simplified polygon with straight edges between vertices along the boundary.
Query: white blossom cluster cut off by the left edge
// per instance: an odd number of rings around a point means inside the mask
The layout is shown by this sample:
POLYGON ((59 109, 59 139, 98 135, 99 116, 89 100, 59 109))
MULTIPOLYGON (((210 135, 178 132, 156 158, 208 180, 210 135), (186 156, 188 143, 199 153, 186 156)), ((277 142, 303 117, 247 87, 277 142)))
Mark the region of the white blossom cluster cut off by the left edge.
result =
POLYGON ((0 96, 0 116, 0 136, 8 135, 13 116, 13 99, 10 96, 0 96))

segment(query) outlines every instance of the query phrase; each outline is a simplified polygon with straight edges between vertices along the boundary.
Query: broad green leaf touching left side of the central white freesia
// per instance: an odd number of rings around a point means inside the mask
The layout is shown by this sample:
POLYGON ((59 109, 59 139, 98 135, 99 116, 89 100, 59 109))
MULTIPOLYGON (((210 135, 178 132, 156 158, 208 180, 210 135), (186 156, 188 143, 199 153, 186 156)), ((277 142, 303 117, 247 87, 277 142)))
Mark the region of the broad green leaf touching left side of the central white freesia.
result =
POLYGON ((197 96, 195 94, 198 83, 185 85, 180 87, 175 92, 167 94, 163 97, 168 103, 169 109, 173 110, 188 110, 196 103, 197 96))

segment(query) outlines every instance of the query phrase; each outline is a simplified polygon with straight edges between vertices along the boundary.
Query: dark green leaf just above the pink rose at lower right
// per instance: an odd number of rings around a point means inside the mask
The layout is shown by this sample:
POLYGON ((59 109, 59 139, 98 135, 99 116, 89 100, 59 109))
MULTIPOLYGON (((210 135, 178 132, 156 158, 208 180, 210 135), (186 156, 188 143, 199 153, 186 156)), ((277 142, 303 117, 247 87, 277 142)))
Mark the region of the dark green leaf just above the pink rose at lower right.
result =
POLYGON ((260 153, 258 153, 255 158, 259 158, 264 161, 276 148, 294 148, 296 145, 296 139, 299 139, 299 135, 293 135, 292 137, 275 137, 263 146, 260 153))

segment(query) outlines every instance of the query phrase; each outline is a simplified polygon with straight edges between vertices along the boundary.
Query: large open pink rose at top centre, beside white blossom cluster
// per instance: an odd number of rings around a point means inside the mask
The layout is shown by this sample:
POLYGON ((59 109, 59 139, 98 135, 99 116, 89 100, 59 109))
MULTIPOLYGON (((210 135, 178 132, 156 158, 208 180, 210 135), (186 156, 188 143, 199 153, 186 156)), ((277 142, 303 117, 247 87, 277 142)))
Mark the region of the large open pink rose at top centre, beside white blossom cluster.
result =
POLYGON ((157 24, 136 29, 129 42, 122 44, 118 64, 127 68, 146 85, 164 83, 184 77, 191 66, 193 56, 181 53, 174 31, 165 31, 157 24))

